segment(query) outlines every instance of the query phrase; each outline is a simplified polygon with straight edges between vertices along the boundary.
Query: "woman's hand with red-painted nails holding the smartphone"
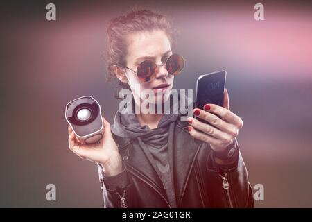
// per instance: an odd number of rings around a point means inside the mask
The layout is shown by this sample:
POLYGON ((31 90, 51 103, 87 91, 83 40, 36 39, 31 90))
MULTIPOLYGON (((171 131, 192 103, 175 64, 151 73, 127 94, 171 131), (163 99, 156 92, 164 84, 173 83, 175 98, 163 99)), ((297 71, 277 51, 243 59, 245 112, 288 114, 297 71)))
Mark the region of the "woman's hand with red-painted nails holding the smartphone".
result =
POLYGON ((224 92, 223 106, 209 103, 204 106, 204 110, 194 109, 193 114, 211 125, 189 117, 189 133, 194 138, 210 144, 211 148, 216 152, 222 152, 227 146, 233 144, 235 137, 239 135, 239 130, 243 127, 243 120, 229 111, 227 89, 224 92), (217 117, 216 114, 222 119, 217 117))

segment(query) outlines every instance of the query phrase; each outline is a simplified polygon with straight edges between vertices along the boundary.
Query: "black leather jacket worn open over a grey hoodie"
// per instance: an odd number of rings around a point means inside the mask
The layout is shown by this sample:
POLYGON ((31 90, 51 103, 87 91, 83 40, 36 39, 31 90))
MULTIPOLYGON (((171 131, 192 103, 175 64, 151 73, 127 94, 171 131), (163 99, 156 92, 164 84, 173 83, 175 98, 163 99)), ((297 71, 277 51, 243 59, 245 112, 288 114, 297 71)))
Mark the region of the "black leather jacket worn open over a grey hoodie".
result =
MULTIPOLYGON (((181 121, 173 123, 173 146, 168 153, 177 207, 253 207, 252 189, 241 154, 238 152, 232 167, 223 169, 216 165, 209 144, 193 142, 187 126, 181 121)), ((114 186, 111 178, 103 177, 98 165, 104 207, 171 207, 162 180, 142 148, 135 140, 113 136, 124 170, 117 179, 120 185, 114 186)), ((239 149, 236 139, 235 143, 239 149)))

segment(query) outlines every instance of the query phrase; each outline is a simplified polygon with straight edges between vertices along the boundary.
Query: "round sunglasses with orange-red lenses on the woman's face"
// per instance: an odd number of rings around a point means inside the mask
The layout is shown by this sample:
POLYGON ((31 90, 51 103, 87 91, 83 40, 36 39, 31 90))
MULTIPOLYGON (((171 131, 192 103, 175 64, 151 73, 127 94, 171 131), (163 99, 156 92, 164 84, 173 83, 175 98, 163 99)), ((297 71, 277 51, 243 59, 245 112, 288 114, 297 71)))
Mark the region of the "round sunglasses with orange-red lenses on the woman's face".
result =
POLYGON ((156 69, 158 69, 158 67, 162 67, 163 65, 166 65, 168 74, 177 76, 178 74, 182 72, 185 61, 186 60, 179 54, 173 54, 169 56, 166 62, 162 65, 157 65, 155 62, 153 62, 153 60, 144 60, 137 66, 137 71, 134 71, 123 65, 120 65, 120 66, 133 71, 135 74, 137 74, 137 77, 142 82, 148 82, 152 80, 153 78, 155 78, 156 69))

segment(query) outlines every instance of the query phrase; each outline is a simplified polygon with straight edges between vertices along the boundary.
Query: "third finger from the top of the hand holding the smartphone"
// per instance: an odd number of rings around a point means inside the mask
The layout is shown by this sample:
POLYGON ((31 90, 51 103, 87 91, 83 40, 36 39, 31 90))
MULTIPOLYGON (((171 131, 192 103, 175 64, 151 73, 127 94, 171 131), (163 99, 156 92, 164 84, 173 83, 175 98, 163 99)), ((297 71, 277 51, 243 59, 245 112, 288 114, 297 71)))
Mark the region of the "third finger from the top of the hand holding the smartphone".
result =
POLYGON ((207 123, 202 123, 201 121, 198 121, 197 119, 189 117, 188 122, 193 128, 196 128, 196 130, 202 131, 202 133, 206 133, 207 135, 210 135, 216 139, 233 139, 232 135, 229 135, 227 133, 224 133, 220 131, 217 128, 214 128, 214 126, 211 126, 207 123))

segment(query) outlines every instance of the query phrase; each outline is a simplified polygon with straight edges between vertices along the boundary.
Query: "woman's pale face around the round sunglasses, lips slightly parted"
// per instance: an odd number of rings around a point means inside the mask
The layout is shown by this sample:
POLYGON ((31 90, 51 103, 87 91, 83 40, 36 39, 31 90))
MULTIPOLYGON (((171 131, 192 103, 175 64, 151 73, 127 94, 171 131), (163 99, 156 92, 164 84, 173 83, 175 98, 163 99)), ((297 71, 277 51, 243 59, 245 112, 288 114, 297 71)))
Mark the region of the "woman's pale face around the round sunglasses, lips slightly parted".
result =
POLYGON ((137 66, 144 60, 153 60, 158 65, 155 78, 148 82, 141 82, 137 74, 125 69, 125 76, 128 78, 135 103, 146 100, 146 94, 142 93, 145 89, 153 90, 154 98, 147 99, 149 103, 164 103, 169 98, 173 86, 173 75, 168 74, 166 65, 163 64, 171 55, 171 44, 164 31, 139 32, 129 35, 126 66, 137 71, 137 66))

